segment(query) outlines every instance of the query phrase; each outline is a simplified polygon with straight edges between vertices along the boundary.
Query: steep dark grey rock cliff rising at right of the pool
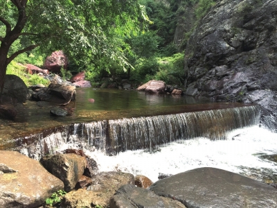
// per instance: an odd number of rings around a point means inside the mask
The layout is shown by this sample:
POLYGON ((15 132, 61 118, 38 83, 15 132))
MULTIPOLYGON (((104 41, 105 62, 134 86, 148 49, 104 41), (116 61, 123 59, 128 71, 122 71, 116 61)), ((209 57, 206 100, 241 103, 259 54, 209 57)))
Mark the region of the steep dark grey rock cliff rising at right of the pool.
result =
POLYGON ((186 94, 257 103, 277 131, 277 0, 217 1, 190 36, 186 94))

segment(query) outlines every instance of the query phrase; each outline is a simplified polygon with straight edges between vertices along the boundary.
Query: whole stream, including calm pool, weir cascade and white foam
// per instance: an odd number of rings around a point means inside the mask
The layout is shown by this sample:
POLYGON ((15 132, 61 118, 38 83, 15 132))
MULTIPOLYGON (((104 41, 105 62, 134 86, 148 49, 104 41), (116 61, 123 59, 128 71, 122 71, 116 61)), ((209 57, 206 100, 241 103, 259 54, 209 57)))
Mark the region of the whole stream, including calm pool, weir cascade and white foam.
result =
POLYGON ((78 89, 71 116, 49 116, 51 105, 19 105, 15 121, 0 120, 0 149, 39 159, 82 148, 100 171, 125 171, 157 181, 211 166, 277 182, 277 134, 260 128, 260 107, 185 96, 78 89), (269 156, 268 156, 269 155, 269 156))

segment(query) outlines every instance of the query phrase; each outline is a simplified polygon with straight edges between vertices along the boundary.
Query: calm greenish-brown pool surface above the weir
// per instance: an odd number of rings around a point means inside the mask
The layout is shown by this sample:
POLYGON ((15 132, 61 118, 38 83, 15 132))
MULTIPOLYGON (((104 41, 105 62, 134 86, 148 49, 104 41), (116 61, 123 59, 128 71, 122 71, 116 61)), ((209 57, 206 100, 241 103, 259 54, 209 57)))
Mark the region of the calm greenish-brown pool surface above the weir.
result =
POLYGON ((18 115, 15 121, 0 119, 0 150, 10 139, 26 137, 70 123, 177 114, 238 107, 244 104, 211 103, 210 100, 204 98, 151 95, 132 90, 87 88, 77 89, 77 101, 63 107, 71 113, 71 116, 50 116, 49 111, 54 105, 44 105, 44 103, 39 103, 39 105, 34 101, 27 101, 17 106, 18 115))

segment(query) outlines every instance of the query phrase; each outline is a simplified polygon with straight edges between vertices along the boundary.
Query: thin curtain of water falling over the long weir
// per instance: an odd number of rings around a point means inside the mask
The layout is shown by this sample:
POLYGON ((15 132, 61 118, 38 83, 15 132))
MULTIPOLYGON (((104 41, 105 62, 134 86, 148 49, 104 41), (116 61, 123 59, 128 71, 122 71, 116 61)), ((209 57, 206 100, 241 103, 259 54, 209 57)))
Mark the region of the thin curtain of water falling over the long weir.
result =
MULTIPOLYGON (((207 137, 226 139, 226 134, 237 128, 257 125, 260 107, 249 105, 218 110, 184 112, 130 119, 114 119, 75 123, 56 128, 45 137, 36 135, 33 144, 26 146, 30 157, 55 153, 65 143, 81 144, 85 148, 96 148, 108 155, 125 150, 150 149, 172 141, 207 137)), ((23 142, 28 143, 29 138, 23 142)))

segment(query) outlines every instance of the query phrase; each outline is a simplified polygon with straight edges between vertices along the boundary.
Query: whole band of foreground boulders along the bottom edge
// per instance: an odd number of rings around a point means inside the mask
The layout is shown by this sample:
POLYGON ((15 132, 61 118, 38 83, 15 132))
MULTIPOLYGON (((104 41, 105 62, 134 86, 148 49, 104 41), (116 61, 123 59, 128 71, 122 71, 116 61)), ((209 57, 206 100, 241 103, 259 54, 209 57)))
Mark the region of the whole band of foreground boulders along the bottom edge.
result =
POLYGON ((82 150, 64 153, 38 162, 0 151, 0 207, 46 207, 62 189, 58 207, 277 207, 277 189, 229 171, 196 168, 152 184, 143 175, 98 173, 82 150))

